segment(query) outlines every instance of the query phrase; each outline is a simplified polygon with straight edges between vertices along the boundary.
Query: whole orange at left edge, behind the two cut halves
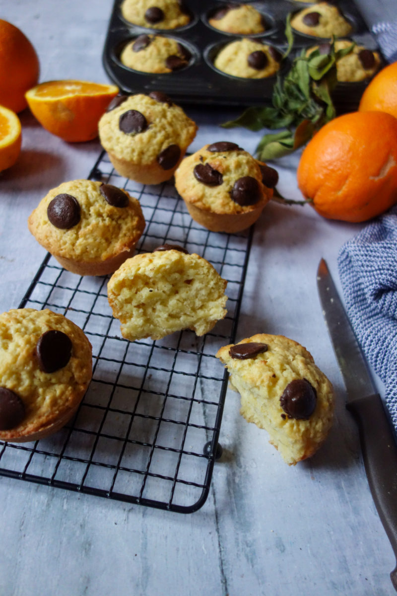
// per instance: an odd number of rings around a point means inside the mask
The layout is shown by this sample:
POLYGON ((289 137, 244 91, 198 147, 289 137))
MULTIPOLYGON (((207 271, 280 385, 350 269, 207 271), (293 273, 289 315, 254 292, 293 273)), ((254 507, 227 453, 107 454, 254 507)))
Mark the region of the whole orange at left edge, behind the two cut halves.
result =
POLYGON ((27 106, 25 92, 39 80, 39 58, 26 35, 0 19, 0 104, 14 112, 27 106))

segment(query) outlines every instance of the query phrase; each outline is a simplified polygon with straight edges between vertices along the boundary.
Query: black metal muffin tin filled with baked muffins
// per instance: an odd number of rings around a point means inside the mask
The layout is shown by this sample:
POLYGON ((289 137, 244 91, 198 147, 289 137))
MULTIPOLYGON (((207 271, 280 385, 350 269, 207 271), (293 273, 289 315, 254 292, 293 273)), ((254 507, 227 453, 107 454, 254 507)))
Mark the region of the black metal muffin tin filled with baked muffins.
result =
MULTIPOLYGON (((244 106, 270 103, 276 76, 255 80, 241 79, 221 73, 213 66, 215 55, 224 45, 245 37, 220 32, 208 24, 208 16, 214 10, 231 4, 230 2, 185 0, 185 5, 192 14, 192 21, 185 27, 173 30, 143 28, 127 23, 121 15, 121 2, 122 0, 114 2, 103 53, 105 70, 121 92, 147 94, 151 91, 162 91, 180 104, 244 106), (142 33, 158 33, 158 35, 176 39, 192 55, 189 64, 183 69, 161 75, 142 73, 124 66, 119 60, 121 50, 129 41, 142 33)), ((248 1, 245 3, 248 4, 248 1)), ((240 1, 239 4, 243 2, 240 1)), ((249 2, 249 4, 264 15, 264 20, 269 27, 265 33, 249 35, 249 37, 272 45, 282 52, 287 44, 285 37, 287 15, 308 7, 308 4, 294 0, 264 0, 249 2)), ((315 10, 315 5, 312 6, 315 10)), ((353 31, 349 38, 379 51, 354 2, 343 0, 339 8, 352 24, 353 31)), ((302 48, 323 41, 323 38, 294 32, 294 46, 290 57, 293 57, 295 52, 300 52, 302 48)), ((286 72, 289 65, 289 59, 283 61, 280 72, 286 72)), ((338 110, 355 110, 366 84, 367 82, 339 83, 334 94, 338 110)))

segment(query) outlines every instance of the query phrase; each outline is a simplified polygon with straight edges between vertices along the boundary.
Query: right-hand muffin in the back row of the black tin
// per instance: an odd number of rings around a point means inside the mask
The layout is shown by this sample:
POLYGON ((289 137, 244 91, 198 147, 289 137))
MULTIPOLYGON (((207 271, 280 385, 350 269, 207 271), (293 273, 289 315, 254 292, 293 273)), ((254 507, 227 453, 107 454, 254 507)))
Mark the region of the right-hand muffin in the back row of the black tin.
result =
POLYGON ((293 15, 291 27, 299 33, 314 37, 343 37, 352 31, 351 24, 340 14, 339 9, 327 2, 318 2, 293 15))

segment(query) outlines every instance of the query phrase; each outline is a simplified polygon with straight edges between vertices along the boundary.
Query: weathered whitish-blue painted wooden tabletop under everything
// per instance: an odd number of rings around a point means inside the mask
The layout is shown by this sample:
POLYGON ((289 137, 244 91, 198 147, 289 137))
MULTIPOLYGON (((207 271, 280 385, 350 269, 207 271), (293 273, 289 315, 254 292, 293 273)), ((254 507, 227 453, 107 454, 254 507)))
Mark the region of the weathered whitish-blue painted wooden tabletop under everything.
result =
MULTIPOLYGON (((111 0, 0 0, 0 18, 20 27, 39 54, 40 80, 107 82, 101 63, 111 0)), ((196 150, 222 140, 225 113, 187 108, 196 150)), ((0 308, 20 303, 44 250, 26 220, 40 198, 85 178, 97 141, 66 144, 26 110, 23 151, 0 177, 0 308)), ((259 135, 227 137, 253 151, 259 135)), ((279 160, 279 190, 299 198, 299 156, 279 160)), ((238 339, 265 331, 301 342, 335 385, 329 439, 310 461, 288 467, 264 431, 239 415, 228 392, 224 457, 208 501, 181 515, 0 477, 2 596, 383 596, 395 593, 392 549, 362 466, 357 427, 315 286, 320 257, 336 282, 336 257, 360 225, 331 222, 310 207, 271 204, 256 226, 238 339)))

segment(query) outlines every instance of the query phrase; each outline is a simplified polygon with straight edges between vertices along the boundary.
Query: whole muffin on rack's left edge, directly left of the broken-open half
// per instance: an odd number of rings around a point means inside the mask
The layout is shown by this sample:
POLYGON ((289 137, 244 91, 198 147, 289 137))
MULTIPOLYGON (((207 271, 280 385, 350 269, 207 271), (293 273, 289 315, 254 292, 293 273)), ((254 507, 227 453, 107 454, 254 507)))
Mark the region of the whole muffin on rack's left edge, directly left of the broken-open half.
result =
POLYGON ((36 240, 78 275, 107 275, 134 254, 145 229, 139 201, 127 191, 92 180, 64 182, 28 219, 36 240))

